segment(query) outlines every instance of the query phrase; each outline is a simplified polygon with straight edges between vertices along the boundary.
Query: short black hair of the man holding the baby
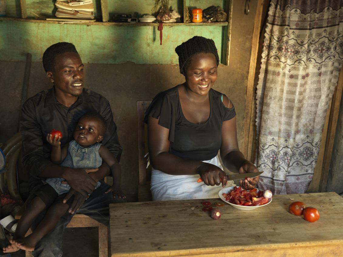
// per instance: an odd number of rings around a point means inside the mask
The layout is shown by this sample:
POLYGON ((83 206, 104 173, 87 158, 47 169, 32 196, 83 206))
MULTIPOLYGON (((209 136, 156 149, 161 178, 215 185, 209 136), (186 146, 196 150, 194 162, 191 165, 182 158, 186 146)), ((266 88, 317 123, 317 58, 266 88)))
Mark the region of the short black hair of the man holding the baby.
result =
POLYGON ((54 70, 55 59, 58 54, 69 52, 79 54, 75 46, 68 42, 59 42, 49 46, 43 53, 43 67, 45 72, 54 70))

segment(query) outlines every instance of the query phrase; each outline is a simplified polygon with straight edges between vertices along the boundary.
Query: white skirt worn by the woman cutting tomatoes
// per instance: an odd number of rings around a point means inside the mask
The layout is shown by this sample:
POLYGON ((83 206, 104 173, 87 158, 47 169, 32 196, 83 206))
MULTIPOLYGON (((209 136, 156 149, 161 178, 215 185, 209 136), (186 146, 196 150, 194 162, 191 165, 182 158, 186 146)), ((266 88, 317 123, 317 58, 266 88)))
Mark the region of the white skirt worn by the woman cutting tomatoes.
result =
MULTIPOLYGON (((214 164, 223 170, 218 157, 203 161, 214 164)), ((223 188, 219 186, 206 186, 203 182, 198 183, 200 176, 196 175, 169 175, 162 171, 151 171, 151 194, 153 201, 205 199, 218 198, 218 192, 223 188)), ((226 186, 234 186, 228 181, 226 186)))

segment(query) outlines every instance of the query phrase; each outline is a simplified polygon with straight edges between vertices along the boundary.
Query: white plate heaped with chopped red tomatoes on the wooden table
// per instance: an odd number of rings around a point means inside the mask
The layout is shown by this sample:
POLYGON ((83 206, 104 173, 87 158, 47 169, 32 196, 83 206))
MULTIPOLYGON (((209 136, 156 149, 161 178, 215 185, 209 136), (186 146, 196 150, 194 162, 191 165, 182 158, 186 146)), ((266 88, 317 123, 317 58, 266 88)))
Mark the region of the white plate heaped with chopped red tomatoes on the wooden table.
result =
POLYGON ((225 203, 239 210, 254 210, 265 206, 272 201, 272 198, 264 198, 263 190, 254 188, 252 190, 242 189, 240 186, 223 188, 218 193, 225 203))

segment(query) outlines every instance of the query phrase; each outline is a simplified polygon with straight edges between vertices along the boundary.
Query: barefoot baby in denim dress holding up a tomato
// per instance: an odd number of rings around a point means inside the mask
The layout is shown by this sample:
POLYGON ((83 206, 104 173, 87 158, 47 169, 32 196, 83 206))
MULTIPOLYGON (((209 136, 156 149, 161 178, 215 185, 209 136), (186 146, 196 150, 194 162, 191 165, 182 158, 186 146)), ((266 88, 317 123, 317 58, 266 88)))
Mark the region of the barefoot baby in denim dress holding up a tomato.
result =
MULTIPOLYGON (((106 132, 106 121, 98 113, 87 113, 81 117, 74 131, 69 145, 60 147, 60 137, 47 135, 47 141, 52 145, 51 161, 70 168, 98 168, 104 160, 111 168, 113 186, 106 193, 112 192, 113 197, 126 198, 120 189, 120 165, 116 157, 102 144, 101 140, 106 132)), ((93 169, 96 171, 97 169, 93 169)), ((96 187, 100 186, 100 182, 96 187)), ((70 186, 62 178, 49 178, 45 180, 43 189, 27 206, 24 214, 18 222, 11 245, 4 247, 4 252, 16 250, 33 251, 37 242, 50 232, 59 219, 68 211, 69 204, 55 200, 69 191, 70 186), (48 208, 48 211, 34 232, 25 237, 39 213, 48 208)), ((61 198, 63 199, 63 198, 61 198)))

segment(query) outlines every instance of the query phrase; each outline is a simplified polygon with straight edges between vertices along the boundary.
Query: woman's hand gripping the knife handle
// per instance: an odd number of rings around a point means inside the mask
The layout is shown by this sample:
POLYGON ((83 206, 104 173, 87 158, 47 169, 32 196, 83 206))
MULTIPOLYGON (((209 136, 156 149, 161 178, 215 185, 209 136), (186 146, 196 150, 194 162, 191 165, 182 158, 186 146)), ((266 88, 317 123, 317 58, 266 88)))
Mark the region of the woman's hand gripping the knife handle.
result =
POLYGON ((226 173, 218 166, 202 162, 200 166, 197 168, 197 172, 199 173, 204 183, 208 186, 218 186, 220 185, 220 183, 222 183, 223 187, 226 186, 226 173))

